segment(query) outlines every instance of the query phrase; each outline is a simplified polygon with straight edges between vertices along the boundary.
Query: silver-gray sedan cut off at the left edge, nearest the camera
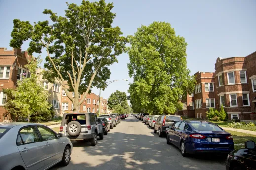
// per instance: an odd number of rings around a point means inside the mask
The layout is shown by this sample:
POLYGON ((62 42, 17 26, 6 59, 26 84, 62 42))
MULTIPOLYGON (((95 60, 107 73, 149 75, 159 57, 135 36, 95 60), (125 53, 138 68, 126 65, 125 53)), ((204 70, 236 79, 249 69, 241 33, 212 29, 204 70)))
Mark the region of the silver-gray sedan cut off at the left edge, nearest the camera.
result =
POLYGON ((70 162, 72 143, 44 125, 0 124, 0 170, 45 170, 70 162))

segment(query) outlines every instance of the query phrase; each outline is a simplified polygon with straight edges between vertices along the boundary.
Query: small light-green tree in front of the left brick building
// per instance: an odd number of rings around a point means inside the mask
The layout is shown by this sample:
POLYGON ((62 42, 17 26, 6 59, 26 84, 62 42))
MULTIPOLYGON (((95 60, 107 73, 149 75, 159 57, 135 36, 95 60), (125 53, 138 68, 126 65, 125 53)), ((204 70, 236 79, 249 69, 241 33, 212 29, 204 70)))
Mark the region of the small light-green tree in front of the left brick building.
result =
POLYGON ((12 91, 12 95, 9 94, 12 98, 7 101, 5 109, 15 117, 15 120, 17 117, 27 117, 28 121, 30 118, 34 121, 49 120, 52 117, 52 105, 47 101, 49 93, 38 82, 40 74, 36 74, 41 60, 32 57, 28 62, 25 67, 30 70, 30 77, 24 77, 17 82, 18 87, 12 91))

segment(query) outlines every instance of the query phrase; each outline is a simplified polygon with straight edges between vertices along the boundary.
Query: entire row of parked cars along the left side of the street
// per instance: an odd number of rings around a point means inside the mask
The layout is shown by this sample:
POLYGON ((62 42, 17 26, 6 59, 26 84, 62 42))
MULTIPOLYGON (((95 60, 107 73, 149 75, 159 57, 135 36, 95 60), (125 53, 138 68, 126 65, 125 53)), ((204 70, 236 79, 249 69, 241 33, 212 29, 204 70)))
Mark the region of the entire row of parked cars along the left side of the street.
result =
POLYGON ((64 113, 59 133, 36 123, 0 124, 0 170, 46 170, 70 162, 70 140, 83 139, 92 146, 128 115, 118 113, 64 113), (15 160, 15 161, 9 161, 15 160))

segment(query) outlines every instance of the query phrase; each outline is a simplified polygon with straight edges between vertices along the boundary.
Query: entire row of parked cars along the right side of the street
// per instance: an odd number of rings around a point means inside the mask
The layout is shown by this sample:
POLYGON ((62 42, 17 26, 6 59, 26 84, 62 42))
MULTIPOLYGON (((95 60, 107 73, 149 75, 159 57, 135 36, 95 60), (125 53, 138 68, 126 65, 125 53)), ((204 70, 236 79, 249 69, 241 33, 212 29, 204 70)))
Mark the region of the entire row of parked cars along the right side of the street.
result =
POLYGON ((245 148, 234 150, 233 136, 218 125, 197 120, 182 120, 175 115, 135 114, 143 123, 165 137, 168 145, 181 150, 182 156, 188 154, 226 154, 226 170, 256 170, 256 144, 245 142, 245 148))

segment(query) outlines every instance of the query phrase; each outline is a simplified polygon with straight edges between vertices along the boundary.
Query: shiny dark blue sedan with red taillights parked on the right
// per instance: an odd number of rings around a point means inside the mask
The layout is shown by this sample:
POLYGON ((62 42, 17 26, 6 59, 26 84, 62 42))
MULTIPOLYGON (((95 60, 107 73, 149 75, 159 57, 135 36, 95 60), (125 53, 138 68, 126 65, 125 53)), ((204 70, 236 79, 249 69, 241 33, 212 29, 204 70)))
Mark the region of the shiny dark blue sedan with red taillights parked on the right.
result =
POLYGON ((177 121, 166 132, 167 144, 181 149, 183 156, 193 153, 230 153, 233 137, 218 125, 206 121, 177 121))

